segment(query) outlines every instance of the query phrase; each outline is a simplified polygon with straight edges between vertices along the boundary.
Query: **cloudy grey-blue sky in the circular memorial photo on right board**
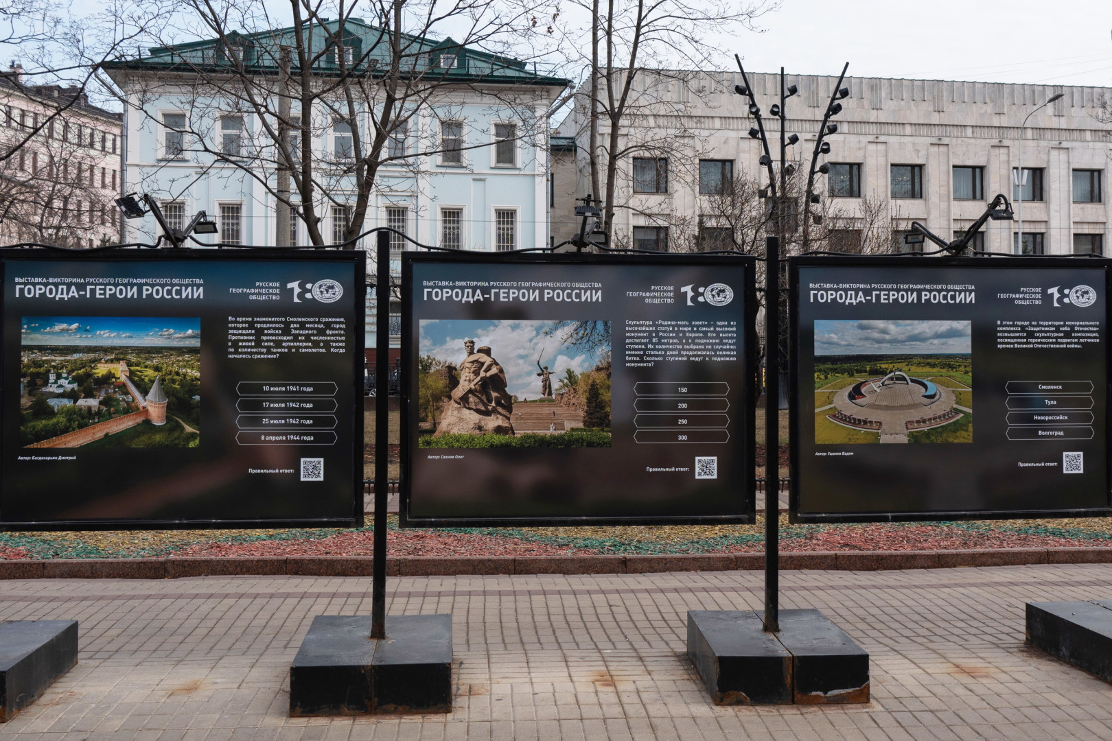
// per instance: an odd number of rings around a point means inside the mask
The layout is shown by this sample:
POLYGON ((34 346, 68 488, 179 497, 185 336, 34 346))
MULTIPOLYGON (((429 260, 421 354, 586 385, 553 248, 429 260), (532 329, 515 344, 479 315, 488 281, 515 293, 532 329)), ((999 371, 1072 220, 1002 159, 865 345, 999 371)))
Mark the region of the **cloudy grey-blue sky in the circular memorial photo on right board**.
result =
POLYGON ((969 353, 967 321, 815 321, 816 356, 969 353))

